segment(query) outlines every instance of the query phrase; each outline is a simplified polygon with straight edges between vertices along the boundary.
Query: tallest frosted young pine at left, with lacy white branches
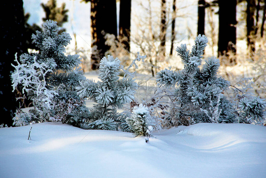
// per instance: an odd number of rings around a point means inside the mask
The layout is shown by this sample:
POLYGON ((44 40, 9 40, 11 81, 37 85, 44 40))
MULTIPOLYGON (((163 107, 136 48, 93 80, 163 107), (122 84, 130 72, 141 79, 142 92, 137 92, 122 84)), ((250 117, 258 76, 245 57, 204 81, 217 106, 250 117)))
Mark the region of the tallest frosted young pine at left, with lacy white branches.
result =
MULTIPOLYGON (((58 34, 57 22, 47 20, 43 24, 43 32, 37 31, 36 35, 32 35, 32 40, 40 51, 22 54, 19 61, 15 59, 18 65, 14 66, 12 86, 15 90, 19 84, 22 85, 23 92, 27 92, 34 108, 28 115, 16 113, 14 123, 24 123, 18 119, 36 122, 74 121, 71 120, 72 112, 86 110, 79 107, 82 101, 75 91, 79 81, 85 77, 78 67, 79 55, 64 54, 71 37, 66 32, 58 34)), ((76 120, 75 125, 79 125, 78 122, 76 120)))

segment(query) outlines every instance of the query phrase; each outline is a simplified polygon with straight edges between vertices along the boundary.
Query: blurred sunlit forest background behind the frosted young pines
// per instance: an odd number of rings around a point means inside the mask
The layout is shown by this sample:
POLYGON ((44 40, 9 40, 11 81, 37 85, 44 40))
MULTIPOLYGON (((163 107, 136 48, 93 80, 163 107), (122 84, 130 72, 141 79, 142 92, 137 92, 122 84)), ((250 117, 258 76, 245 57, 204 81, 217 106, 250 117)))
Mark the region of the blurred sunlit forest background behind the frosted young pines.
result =
POLYGON ((70 33, 66 53, 80 55, 85 73, 97 70, 108 54, 127 66, 138 51, 148 57, 139 73, 156 77, 170 66, 179 70, 176 47, 189 49, 195 36, 205 35, 204 58, 220 59, 220 75, 232 86, 250 82, 265 98, 265 0, 16 0, 3 1, 1 8, 0 99, 6 102, 0 102, 0 113, 9 126, 16 108, 31 105, 19 88, 11 92, 11 64, 15 53, 38 51, 31 35, 47 19, 70 33))

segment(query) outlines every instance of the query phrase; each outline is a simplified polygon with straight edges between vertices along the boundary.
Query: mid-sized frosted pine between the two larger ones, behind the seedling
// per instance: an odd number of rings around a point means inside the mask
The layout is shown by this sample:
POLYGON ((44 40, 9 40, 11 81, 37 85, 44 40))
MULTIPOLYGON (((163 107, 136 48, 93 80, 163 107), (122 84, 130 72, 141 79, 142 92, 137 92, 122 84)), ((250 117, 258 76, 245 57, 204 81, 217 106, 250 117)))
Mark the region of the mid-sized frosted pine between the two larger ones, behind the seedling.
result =
POLYGON ((145 56, 138 56, 133 60, 132 64, 124 70, 120 66, 118 58, 108 55, 100 61, 99 79, 97 83, 91 79, 80 82, 76 87, 77 94, 81 98, 88 98, 94 101, 93 109, 87 117, 88 129, 105 129, 105 130, 126 130, 127 125, 125 119, 127 115, 118 114, 117 108, 122 108, 126 103, 134 100, 134 91, 137 88, 137 83, 133 79, 134 74, 131 74, 128 69, 133 65, 137 68, 135 61, 144 60, 145 56), (119 79, 120 69, 125 74, 122 79, 119 79), (123 127, 125 126, 125 127, 123 127))

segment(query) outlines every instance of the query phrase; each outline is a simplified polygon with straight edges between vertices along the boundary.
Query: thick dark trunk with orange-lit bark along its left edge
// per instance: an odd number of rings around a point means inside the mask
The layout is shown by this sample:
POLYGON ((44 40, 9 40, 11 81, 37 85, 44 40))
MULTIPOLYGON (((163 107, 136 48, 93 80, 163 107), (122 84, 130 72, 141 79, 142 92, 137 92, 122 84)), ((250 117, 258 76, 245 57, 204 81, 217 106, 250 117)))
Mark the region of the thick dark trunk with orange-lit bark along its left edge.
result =
POLYGON ((92 47, 97 47, 97 52, 92 52, 92 70, 99 68, 101 58, 109 50, 105 45, 105 34, 117 36, 116 0, 91 0, 91 33, 92 47))

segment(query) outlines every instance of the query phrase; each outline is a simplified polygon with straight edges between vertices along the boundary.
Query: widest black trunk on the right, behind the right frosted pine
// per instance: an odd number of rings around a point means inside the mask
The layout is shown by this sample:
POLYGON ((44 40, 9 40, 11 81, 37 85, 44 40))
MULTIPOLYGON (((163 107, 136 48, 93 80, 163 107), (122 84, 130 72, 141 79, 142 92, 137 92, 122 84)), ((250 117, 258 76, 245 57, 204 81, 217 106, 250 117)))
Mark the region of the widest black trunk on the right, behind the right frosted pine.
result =
POLYGON ((236 64, 236 0, 219 0, 218 56, 236 64), (231 53, 231 55, 229 55, 231 53))

